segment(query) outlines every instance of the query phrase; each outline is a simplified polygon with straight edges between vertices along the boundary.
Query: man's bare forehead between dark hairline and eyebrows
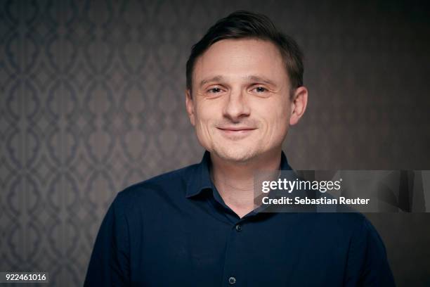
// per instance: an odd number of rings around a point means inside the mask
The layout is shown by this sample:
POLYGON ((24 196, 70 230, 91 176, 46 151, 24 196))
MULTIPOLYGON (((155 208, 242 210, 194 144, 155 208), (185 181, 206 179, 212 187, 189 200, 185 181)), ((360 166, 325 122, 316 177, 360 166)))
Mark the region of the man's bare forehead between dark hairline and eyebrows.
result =
POLYGON ((261 39, 224 39, 211 45, 195 62, 193 83, 219 75, 225 79, 258 75, 278 84, 288 82, 279 49, 261 39))

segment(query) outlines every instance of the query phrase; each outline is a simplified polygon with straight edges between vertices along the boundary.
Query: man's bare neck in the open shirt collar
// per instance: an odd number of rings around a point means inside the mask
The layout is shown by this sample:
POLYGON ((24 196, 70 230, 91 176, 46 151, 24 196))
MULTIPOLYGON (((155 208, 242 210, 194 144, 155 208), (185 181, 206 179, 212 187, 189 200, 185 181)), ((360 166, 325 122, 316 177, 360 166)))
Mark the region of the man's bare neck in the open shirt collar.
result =
POLYGON ((211 177, 224 203, 239 217, 254 210, 254 172, 278 170, 281 148, 258 158, 243 162, 231 162, 211 153, 211 177))

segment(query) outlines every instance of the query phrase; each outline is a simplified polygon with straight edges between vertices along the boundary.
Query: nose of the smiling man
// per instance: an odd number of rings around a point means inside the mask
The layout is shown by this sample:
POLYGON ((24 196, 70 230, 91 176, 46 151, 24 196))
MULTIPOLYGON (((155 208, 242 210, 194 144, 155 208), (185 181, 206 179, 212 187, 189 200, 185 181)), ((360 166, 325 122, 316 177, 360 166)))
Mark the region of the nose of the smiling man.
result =
POLYGON ((226 98, 223 115, 233 122, 238 122, 242 117, 249 116, 250 109, 247 103, 247 95, 240 89, 232 89, 226 98))

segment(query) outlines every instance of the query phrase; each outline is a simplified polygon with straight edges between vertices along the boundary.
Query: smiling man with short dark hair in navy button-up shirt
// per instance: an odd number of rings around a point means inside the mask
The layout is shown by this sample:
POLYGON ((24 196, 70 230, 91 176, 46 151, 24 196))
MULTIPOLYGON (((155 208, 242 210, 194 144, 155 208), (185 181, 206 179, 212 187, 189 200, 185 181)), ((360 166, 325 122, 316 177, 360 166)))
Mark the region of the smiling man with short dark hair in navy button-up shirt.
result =
POLYGON ((254 172, 291 170, 282 141, 306 110, 294 40, 237 11, 193 46, 185 102, 202 162, 120 192, 86 286, 393 286, 384 245, 356 213, 254 209, 254 172))

